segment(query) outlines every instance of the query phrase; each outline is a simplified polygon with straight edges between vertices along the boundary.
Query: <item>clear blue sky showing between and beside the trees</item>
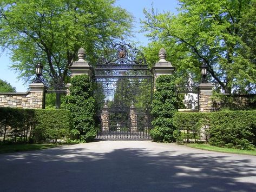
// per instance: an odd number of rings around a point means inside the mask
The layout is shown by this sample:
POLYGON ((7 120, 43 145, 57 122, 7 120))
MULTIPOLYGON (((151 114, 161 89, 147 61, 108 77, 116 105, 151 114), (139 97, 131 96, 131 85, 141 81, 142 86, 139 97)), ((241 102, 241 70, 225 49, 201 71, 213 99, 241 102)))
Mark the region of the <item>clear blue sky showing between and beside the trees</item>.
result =
MULTIPOLYGON (((144 18, 143 9, 150 10, 152 5, 157 12, 171 11, 174 14, 177 13, 176 8, 178 7, 178 1, 176 0, 116 0, 117 6, 129 11, 135 18, 134 21, 134 39, 136 42, 140 42, 141 45, 147 45, 148 39, 144 34, 140 33, 140 19, 144 18)), ((9 82, 13 87, 16 88, 17 92, 27 91, 27 85, 23 85, 25 82, 17 79, 17 74, 14 70, 9 69, 11 61, 6 52, 0 53, 0 78, 4 81, 9 82)))

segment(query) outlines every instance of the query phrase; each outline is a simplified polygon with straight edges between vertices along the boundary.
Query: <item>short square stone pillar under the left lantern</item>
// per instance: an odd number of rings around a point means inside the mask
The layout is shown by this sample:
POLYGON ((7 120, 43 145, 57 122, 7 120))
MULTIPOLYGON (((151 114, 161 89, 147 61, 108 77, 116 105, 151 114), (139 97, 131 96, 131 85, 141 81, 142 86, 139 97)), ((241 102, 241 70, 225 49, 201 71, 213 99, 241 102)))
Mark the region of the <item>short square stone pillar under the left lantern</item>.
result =
POLYGON ((44 109, 45 106, 45 90, 43 83, 31 83, 29 85, 29 98, 31 109, 44 109))

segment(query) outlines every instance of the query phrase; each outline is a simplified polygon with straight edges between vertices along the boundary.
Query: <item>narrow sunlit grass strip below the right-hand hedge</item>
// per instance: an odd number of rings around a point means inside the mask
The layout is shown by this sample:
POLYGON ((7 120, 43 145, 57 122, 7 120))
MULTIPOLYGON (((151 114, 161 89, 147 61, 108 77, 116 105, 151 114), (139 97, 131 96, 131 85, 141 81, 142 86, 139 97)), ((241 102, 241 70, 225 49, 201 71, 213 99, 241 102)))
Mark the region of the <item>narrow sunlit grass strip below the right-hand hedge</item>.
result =
POLYGON ((241 149, 232 149, 232 148, 222 148, 222 147, 215 147, 215 146, 212 146, 209 144, 197 144, 197 143, 186 144, 186 146, 193 147, 196 149, 208 150, 208 151, 243 154, 243 155, 256 155, 256 150, 241 150, 241 149))

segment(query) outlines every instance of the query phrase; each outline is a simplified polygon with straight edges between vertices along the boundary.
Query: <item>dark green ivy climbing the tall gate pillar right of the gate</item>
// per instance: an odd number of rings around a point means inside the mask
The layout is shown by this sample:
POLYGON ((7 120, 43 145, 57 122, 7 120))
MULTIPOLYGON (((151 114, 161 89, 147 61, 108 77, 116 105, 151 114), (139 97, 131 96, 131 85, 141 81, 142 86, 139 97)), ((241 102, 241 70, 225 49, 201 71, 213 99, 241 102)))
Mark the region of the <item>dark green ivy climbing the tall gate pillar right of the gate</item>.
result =
POLYGON ((176 112, 176 84, 173 75, 161 75, 157 77, 155 92, 152 101, 152 115, 154 129, 150 135, 155 142, 175 141, 173 116, 176 112))

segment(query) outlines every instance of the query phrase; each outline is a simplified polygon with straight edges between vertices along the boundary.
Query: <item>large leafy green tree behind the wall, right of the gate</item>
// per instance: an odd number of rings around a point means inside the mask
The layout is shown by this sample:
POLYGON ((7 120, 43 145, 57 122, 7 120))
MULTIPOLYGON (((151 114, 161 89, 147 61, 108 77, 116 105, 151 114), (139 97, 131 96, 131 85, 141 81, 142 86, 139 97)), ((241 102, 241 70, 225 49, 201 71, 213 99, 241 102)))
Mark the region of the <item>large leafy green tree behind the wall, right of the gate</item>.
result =
POLYGON ((199 67, 205 62, 219 89, 250 92, 256 87, 255 46, 250 41, 255 42, 254 5, 255 0, 180 0, 176 16, 145 10, 143 30, 153 40, 150 47, 168 47, 178 70, 191 70, 199 79, 199 67), (244 22, 251 17, 248 26, 244 22))

